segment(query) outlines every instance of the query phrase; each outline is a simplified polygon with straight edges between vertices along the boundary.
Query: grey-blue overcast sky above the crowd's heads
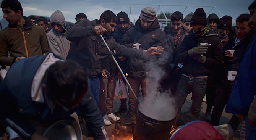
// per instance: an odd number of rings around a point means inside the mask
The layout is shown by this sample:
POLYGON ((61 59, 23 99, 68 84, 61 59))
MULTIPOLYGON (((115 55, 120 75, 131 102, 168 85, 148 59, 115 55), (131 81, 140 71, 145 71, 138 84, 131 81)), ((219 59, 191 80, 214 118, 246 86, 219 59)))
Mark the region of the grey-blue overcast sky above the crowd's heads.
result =
MULTIPOLYGON (((212 7, 204 6, 215 6, 217 9, 213 8, 209 14, 216 13, 219 18, 223 15, 229 15, 233 18, 234 24, 237 16, 242 13, 249 13, 248 6, 253 0, 19 0, 19 2, 23 6, 24 16, 39 15, 50 17, 54 11, 60 10, 64 14, 66 21, 73 23, 76 22, 76 14, 80 12, 85 13, 89 20, 99 19, 100 14, 105 10, 111 10, 115 14, 124 11, 129 16, 131 4, 134 4, 130 16, 130 21, 132 22, 139 18, 141 9, 146 6, 151 6, 158 10, 157 14, 162 11, 171 13, 180 11, 184 17, 199 7, 202 7, 207 14, 212 7), (186 5, 190 7, 186 8, 186 5)), ((209 14, 207 14, 207 17, 209 14)))

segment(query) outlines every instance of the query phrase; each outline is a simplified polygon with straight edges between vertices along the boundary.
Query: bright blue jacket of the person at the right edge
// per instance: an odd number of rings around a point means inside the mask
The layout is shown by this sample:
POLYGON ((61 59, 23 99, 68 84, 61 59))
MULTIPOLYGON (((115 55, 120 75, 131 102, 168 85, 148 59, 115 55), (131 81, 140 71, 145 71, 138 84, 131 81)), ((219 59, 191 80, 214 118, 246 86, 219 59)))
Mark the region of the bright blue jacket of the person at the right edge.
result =
POLYGON ((226 112, 247 115, 254 95, 256 95, 256 35, 243 57, 232 91, 229 95, 226 112))

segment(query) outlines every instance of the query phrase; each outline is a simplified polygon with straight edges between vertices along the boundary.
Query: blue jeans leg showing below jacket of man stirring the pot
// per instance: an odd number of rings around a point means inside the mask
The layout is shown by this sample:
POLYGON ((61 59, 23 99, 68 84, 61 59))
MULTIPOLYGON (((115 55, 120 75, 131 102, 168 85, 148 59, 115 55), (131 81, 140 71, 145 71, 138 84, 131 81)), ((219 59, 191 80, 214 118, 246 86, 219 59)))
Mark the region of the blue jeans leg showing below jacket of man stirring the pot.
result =
POLYGON ((91 82, 91 90, 92 90, 92 94, 93 97, 96 101, 97 106, 99 107, 99 100, 100 100, 100 80, 99 78, 95 78, 90 80, 91 82))

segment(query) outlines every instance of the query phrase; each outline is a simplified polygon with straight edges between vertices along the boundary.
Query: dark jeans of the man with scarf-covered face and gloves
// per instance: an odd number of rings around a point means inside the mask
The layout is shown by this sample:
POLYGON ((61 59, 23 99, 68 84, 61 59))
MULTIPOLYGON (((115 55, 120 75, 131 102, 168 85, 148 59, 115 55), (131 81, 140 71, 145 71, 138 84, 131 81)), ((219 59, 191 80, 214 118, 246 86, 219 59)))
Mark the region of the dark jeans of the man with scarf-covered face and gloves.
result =
POLYGON ((177 87, 177 91, 174 95, 177 105, 177 118, 181 114, 181 108, 186 101, 186 98, 189 93, 192 92, 192 106, 191 106, 191 113, 193 113, 197 118, 201 111, 202 101, 206 92, 206 83, 208 77, 204 78, 194 78, 190 79, 186 76, 181 76, 180 81, 177 87))

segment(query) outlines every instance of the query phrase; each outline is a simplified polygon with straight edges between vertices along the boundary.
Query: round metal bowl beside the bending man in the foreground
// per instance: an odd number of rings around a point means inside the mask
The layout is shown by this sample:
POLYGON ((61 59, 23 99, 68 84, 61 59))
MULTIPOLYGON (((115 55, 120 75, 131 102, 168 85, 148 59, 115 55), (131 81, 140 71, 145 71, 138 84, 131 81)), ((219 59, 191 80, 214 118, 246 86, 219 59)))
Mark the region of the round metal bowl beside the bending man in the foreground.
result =
POLYGON ((55 122, 43 136, 49 140, 83 140, 80 126, 73 117, 55 122))

